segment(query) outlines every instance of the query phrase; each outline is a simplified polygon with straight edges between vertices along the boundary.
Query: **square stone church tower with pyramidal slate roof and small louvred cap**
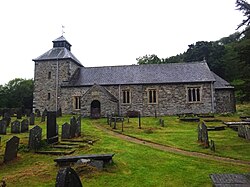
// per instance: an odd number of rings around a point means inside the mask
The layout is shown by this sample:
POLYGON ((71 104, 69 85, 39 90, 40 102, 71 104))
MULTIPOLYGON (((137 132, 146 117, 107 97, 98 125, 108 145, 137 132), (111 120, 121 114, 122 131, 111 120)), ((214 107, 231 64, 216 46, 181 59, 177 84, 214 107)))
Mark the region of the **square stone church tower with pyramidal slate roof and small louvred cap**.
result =
POLYGON ((83 65, 71 53, 71 44, 61 36, 55 39, 53 48, 33 59, 34 110, 57 111, 61 107, 61 84, 69 81, 73 73, 83 65))

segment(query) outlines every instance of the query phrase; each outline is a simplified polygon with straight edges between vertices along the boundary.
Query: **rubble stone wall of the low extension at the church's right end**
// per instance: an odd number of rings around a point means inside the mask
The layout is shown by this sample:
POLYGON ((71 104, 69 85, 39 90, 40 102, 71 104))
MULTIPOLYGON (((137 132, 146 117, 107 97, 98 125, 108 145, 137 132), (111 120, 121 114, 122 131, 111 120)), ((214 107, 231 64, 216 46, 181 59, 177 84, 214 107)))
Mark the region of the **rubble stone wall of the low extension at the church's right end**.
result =
POLYGON ((236 111, 235 97, 233 89, 215 90, 215 112, 216 113, 234 113, 236 111))

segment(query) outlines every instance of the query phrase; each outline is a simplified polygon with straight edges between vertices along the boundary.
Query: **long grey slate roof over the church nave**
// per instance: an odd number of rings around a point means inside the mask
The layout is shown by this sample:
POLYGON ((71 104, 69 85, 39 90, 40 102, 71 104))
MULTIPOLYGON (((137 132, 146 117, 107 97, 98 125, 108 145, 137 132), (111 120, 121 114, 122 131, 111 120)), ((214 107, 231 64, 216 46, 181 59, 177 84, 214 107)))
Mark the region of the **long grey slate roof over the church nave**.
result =
POLYGON ((207 63, 172 63, 128 66, 82 67, 68 85, 161 84, 214 82, 207 63))

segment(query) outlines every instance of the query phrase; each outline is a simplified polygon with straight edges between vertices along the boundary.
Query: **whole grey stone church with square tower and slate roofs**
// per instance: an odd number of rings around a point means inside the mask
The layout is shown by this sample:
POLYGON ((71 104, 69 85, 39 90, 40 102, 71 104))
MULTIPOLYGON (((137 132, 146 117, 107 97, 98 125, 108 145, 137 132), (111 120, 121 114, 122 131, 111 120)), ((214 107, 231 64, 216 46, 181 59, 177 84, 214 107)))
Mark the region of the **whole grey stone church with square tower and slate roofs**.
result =
POLYGON ((84 67, 64 36, 33 61, 34 110, 90 117, 235 112, 233 87, 205 61, 84 67))

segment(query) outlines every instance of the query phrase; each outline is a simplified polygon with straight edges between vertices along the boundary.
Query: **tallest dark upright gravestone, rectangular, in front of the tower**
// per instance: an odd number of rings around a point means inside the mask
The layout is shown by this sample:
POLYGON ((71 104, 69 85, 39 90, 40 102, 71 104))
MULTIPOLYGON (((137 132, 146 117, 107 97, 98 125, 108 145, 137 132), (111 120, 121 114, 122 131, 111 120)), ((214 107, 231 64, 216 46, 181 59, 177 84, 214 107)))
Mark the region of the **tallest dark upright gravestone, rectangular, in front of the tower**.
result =
POLYGON ((56 127, 56 112, 47 112, 47 142, 49 144, 58 142, 56 127))

